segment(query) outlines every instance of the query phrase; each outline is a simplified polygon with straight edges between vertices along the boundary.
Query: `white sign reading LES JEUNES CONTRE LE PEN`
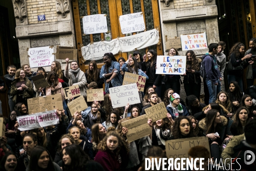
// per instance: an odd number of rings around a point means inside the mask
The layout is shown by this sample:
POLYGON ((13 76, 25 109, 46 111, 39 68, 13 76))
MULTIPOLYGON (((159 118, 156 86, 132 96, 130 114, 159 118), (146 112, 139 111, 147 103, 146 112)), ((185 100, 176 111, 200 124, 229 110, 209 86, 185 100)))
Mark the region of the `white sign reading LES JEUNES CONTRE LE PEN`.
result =
POLYGON ((113 108, 140 103, 137 84, 109 88, 113 108))

